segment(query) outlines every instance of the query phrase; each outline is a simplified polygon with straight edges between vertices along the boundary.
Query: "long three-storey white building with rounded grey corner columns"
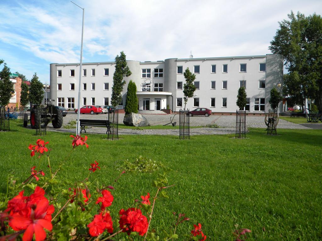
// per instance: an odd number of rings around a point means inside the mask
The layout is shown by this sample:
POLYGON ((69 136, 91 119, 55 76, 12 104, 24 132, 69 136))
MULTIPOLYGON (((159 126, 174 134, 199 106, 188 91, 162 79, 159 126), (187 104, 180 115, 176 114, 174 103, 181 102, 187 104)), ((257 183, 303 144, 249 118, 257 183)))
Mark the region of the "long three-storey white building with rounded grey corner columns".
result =
MULTIPOLYGON (((283 78, 283 58, 277 54, 222 58, 169 58, 164 61, 127 61, 132 75, 123 88, 125 105, 128 82, 137 85, 139 110, 157 111, 184 107, 184 71, 195 74, 194 97, 186 108, 205 107, 217 113, 236 112, 237 92, 246 87, 246 110, 265 113, 270 90, 283 78)), ((81 105, 108 105, 111 99, 114 62, 83 63, 81 105)), ((51 64, 50 86, 53 103, 77 108, 80 64, 51 64)), ((281 108, 280 108, 281 110, 281 108)))

